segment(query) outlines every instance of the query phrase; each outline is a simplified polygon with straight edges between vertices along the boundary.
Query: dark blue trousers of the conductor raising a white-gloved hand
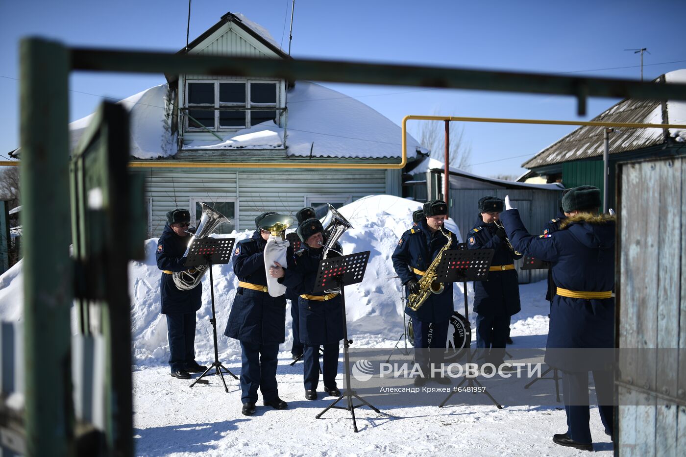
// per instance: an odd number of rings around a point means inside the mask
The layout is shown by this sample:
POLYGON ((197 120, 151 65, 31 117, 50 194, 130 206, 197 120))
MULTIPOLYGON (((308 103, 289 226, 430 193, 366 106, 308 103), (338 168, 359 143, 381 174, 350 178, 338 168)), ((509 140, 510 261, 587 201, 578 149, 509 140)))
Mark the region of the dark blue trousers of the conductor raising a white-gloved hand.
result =
MULTIPOLYGON (((593 371, 595 393, 598 397, 598 412, 600 420, 605 426, 605 432, 613 434, 613 372, 593 371)), ((565 412, 567 413, 567 434, 578 443, 589 444, 591 428, 589 419, 589 372, 563 372, 562 388, 565 397, 565 412)))

